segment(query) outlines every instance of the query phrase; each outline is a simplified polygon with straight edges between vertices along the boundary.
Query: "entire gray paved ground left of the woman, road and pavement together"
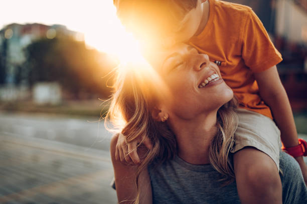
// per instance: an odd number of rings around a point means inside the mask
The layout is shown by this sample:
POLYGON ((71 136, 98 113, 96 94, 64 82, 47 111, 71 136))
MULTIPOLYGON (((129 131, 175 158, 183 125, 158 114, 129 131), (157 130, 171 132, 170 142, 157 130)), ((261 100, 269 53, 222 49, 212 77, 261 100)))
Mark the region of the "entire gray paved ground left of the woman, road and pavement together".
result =
POLYGON ((96 118, 0 113, 0 203, 116 203, 96 118))

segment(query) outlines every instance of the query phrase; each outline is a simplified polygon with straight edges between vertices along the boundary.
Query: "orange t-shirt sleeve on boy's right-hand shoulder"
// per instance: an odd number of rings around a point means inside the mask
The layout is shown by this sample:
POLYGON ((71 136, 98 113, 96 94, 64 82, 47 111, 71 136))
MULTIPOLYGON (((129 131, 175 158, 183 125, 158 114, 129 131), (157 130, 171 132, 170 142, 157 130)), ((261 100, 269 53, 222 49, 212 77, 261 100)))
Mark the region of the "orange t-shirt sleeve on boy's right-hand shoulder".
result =
POLYGON ((249 10, 242 33, 242 58, 253 72, 264 71, 282 60, 262 22, 249 10))

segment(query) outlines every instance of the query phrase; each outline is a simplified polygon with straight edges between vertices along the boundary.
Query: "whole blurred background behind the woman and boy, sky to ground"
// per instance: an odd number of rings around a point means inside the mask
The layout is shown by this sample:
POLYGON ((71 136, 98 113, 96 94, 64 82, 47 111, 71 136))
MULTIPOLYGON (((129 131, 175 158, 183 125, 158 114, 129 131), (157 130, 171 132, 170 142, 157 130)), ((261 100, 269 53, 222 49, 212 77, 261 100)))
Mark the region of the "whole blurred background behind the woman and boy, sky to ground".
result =
MULTIPOLYGON (((251 6, 307 139, 307 0, 251 6)), ((112 69, 139 56, 112 0, 10 0, 0 12, 0 203, 116 203, 107 110, 112 69)))

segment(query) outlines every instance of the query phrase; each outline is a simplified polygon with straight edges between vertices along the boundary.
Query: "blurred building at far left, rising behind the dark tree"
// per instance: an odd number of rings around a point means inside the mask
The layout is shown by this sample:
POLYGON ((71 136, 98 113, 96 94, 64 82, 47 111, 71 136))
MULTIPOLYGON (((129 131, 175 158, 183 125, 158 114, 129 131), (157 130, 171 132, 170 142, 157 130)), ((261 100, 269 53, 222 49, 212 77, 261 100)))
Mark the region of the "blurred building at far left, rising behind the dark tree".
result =
POLYGON ((12 23, 0 30, 0 67, 5 73, 4 84, 18 84, 27 81, 17 81, 18 69, 25 61, 23 49, 36 39, 56 36, 71 36, 77 40, 84 40, 83 34, 68 30, 66 26, 54 24, 44 25, 39 23, 17 24, 12 23))

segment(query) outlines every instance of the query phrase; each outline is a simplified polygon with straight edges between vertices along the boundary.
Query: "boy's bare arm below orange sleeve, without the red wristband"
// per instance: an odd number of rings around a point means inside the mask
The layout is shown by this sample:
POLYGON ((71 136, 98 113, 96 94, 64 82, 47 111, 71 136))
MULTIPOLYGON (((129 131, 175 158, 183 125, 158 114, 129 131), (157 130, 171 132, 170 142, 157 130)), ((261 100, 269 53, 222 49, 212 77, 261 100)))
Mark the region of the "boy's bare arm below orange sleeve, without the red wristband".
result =
MULTIPOLYGON (((280 129, 281 141, 285 147, 298 145, 296 127, 286 91, 280 81, 276 66, 254 73, 259 86, 259 93, 270 107, 274 120, 280 129)), ((307 166, 302 156, 295 157, 299 163, 305 183, 307 183, 307 166)))

